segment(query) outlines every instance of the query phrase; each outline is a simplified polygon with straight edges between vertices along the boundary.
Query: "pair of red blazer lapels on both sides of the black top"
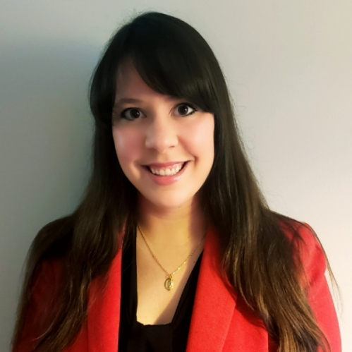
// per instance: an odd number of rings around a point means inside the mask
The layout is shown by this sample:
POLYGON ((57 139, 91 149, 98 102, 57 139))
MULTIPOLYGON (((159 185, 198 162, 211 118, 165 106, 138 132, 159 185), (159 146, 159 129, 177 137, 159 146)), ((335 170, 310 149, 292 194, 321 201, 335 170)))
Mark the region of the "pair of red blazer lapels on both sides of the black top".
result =
MULTIPOLYGON (((89 352, 116 352, 119 344, 122 250, 114 258, 107 279, 90 287, 87 317, 89 352)), ((219 241, 211 227, 195 293, 187 352, 222 351, 236 306, 220 275, 219 241)))

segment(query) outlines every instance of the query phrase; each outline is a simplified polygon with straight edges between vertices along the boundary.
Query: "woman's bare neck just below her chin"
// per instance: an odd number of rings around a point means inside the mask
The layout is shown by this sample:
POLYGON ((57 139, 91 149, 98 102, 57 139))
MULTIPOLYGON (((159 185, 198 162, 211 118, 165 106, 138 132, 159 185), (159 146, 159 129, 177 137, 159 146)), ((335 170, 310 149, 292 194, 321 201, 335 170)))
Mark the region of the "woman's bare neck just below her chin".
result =
POLYGON ((148 241, 160 246, 198 243, 207 230, 205 215, 196 199, 176 209, 160 209, 145 198, 140 199, 138 222, 148 241))

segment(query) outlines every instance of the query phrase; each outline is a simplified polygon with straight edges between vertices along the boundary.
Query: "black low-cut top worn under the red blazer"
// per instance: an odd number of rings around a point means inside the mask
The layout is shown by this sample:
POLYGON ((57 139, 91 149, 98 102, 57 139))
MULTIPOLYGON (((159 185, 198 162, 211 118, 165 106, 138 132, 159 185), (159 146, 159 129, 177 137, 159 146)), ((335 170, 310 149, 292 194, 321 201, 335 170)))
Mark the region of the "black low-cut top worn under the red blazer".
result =
MULTIPOLYGON (((137 321, 137 267, 135 236, 123 248, 119 352, 185 352, 202 254, 183 289, 169 324, 137 321)), ((152 299, 152 298, 151 298, 152 299)))

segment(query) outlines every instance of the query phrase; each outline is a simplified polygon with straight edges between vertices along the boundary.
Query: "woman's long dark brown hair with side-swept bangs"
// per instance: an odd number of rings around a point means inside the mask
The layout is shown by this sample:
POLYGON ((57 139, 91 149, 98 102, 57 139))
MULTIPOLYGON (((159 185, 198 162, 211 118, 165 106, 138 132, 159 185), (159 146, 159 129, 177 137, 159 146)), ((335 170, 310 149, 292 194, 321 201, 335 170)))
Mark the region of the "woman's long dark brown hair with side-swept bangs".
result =
POLYGON ((182 97, 214 114, 214 164, 201 197, 205 214, 221 236, 224 279, 262 318, 279 351, 313 352, 318 346, 326 351, 329 346, 310 310, 300 279, 302 265, 294 253, 300 236, 294 222, 270 211, 262 197, 219 63, 194 28, 162 13, 144 13, 123 25, 95 69, 90 90, 95 118, 90 183, 77 210, 45 226, 32 243, 14 348, 44 262, 58 260, 65 280, 35 351, 59 352, 75 339, 87 317, 90 283, 104 277, 121 247, 116 233, 135 228, 137 193, 121 170, 111 133, 116 75, 125 59, 156 92, 182 97), (283 224, 291 228, 293 241, 283 224))

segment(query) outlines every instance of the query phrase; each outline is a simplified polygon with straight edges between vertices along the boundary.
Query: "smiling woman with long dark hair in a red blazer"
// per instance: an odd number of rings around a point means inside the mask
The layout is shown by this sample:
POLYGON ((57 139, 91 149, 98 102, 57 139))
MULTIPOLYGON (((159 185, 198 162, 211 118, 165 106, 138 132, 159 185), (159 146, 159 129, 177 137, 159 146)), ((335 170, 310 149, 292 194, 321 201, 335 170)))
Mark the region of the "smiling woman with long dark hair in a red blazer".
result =
POLYGON ((124 25, 90 106, 90 183, 32 244, 13 351, 341 351, 324 251, 265 204, 198 32, 124 25))

